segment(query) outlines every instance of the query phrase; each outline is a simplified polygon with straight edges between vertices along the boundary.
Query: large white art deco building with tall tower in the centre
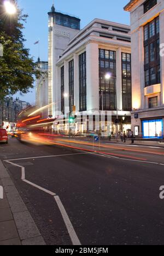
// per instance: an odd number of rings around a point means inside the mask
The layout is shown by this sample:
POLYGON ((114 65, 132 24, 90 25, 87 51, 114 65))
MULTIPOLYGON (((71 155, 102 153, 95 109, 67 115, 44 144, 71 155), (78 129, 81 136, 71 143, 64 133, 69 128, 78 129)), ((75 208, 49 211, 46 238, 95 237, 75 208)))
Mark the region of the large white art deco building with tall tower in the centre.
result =
MULTIPOLYGON (((83 132, 91 130, 89 115, 102 110, 105 120, 112 118, 110 131, 115 133, 118 112, 118 130, 131 129, 130 26, 95 19, 80 30, 80 19, 54 5, 48 15, 48 104, 53 103, 48 116, 66 120, 72 111, 85 115, 84 123, 80 119, 72 127, 83 132)), ((70 124, 56 122, 54 129, 67 132, 70 124)))

